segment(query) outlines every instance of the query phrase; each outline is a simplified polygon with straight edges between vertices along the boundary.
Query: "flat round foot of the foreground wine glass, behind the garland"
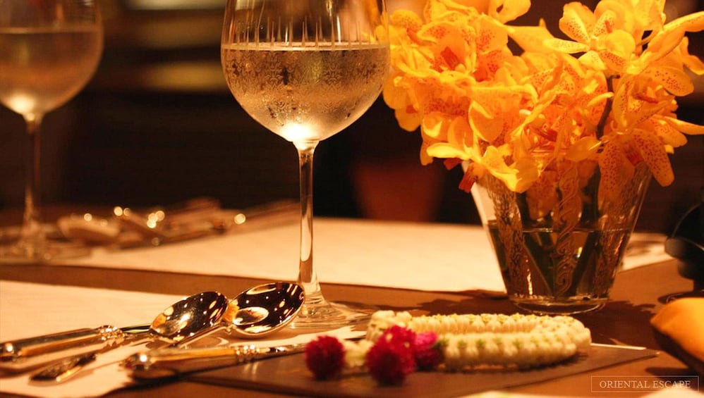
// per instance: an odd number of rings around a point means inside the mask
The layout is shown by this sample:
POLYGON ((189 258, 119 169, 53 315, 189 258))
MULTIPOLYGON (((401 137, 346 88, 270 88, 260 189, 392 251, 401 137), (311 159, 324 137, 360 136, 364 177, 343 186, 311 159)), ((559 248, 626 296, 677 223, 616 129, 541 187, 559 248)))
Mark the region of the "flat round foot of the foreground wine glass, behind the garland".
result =
POLYGON ((332 329, 348 325, 367 323, 375 306, 348 306, 346 304, 321 301, 315 304, 303 304, 301 312, 291 323, 293 329, 332 329))

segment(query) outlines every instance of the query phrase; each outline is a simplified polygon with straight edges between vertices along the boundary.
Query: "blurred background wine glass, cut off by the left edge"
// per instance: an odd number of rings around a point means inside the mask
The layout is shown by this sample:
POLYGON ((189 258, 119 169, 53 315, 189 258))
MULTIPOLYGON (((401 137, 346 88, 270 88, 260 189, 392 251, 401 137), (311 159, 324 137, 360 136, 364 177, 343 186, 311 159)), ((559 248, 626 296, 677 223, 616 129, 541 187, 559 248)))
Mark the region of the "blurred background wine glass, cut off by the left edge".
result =
POLYGON ((44 114, 78 94, 103 48, 96 0, 0 0, 0 103, 25 119, 25 210, 8 261, 66 256, 40 220, 40 126, 44 114))

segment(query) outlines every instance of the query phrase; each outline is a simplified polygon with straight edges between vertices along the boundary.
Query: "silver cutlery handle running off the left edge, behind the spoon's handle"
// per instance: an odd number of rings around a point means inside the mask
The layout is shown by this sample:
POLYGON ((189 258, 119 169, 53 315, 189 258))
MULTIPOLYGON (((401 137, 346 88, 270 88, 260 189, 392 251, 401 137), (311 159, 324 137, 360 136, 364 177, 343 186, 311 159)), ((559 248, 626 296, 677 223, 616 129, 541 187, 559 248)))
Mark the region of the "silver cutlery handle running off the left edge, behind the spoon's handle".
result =
POLYGON ((138 335, 143 331, 141 326, 115 328, 104 325, 3 342, 0 343, 0 369, 12 373, 25 371, 68 356, 121 344, 128 335, 138 335))

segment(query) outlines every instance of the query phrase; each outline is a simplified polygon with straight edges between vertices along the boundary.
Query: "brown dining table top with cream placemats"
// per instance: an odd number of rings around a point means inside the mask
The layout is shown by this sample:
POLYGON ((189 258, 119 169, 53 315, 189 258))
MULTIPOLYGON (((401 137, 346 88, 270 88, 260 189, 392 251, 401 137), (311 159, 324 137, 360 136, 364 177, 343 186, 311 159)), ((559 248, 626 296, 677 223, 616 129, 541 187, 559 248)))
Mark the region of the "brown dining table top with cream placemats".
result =
MULTIPOLYGON (((43 209, 44 220, 50 224, 86 209, 43 209)), ((17 222, 18 213, 0 212, 0 225, 17 222)), ((320 217, 314 232, 315 267, 330 301, 416 316, 521 312, 506 297, 481 225, 320 217)), ((150 323, 191 294, 217 291, 232 297, 260 283, 296 281, 299 233, 297 214, 288 213, 193 240, 129 248, 95 245, 75 258, 1 261, 0 342, 99 325, 150 323)), ((304 354, 292 354, 176 378, 134 380, 121 362, 148 345, 126 345, 100 355, 63 383, 32 381, 28 372, 0 373, 0 396, 703 396, 700 376, 662 344, 650 325, 669 299, 693 290, 693 281, 679 275, 677 260, 665 253, 665 239, 659 233, 633 233, 607 305, 573 315, 590 330, 593 344, 552 366, 414 372, 400 385, 379 385, 364 371, 316 380, 304 354)), ((358 338, 365 330, 365 324, 312 331, 286 328, 256 343, 308 342, 320 335, 358 338)), ((221 340, 240 342, 228 335, 221 340)))

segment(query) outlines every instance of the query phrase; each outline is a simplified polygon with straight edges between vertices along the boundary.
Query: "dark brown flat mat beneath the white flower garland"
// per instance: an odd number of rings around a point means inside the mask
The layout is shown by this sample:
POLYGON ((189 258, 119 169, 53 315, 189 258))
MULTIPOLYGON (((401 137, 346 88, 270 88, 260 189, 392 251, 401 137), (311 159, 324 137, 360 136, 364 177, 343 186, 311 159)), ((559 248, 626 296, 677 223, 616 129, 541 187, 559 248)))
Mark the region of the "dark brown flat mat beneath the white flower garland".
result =
POLYGON ((544 368, 527 371, 416 372, 408 375, 401 386, 380 387, 365 373, 346 375, 339 380, 314 380, 305 368, 303 354, 296 354, 194 373, 186 376, 186 380, 308 397, 457 397, 539 383, 655 355, 657 352, 651 349, 590 347, 587 352, 569 361, 544 368))

